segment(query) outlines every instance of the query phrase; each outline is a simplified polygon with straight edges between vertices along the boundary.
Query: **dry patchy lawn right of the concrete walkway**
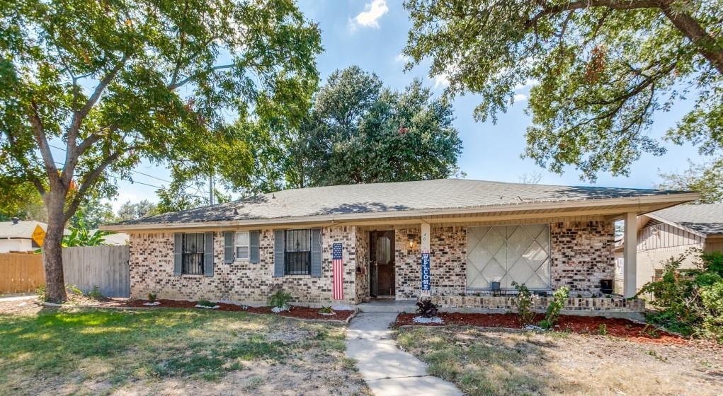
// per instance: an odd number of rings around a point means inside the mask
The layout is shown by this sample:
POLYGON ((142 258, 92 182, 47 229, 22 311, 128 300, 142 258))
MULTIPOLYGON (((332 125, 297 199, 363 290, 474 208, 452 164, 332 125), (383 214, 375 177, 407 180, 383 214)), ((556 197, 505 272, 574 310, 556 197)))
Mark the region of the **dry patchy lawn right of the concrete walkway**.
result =
POLYGON ((709 343, 404 327, 398 344, 467 395, 723 394, 723 348, 709 343))

